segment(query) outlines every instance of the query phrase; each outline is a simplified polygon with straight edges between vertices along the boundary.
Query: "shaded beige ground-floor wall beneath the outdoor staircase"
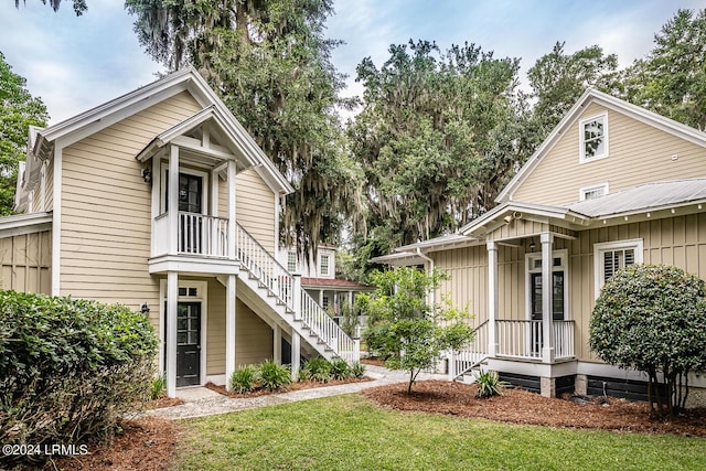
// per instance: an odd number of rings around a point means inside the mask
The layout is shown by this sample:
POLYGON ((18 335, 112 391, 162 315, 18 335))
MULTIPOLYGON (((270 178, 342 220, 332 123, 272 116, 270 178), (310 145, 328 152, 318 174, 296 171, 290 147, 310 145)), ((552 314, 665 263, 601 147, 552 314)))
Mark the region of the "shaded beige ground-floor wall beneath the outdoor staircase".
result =
MULTIPOLYGON (((236 367, 272 357, 272 330, 247 304, 237 299, 235 317, 236 367)), ((208 321, 206 374, 225 372, 225 288, 208 281, 208 321)))

